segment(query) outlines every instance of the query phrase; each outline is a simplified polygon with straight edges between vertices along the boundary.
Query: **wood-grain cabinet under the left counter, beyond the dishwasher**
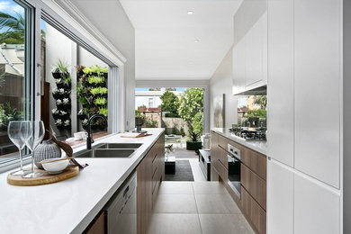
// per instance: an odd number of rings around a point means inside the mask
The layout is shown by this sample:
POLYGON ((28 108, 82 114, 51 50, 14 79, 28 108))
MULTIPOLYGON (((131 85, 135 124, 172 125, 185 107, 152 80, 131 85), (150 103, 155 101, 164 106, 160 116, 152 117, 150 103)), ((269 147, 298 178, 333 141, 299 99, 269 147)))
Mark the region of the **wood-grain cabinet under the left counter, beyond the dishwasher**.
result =
POLYGON ((144 234, 158 187, 165 177, 165 134, 162 134, 137 166, 137 230, 144 234))

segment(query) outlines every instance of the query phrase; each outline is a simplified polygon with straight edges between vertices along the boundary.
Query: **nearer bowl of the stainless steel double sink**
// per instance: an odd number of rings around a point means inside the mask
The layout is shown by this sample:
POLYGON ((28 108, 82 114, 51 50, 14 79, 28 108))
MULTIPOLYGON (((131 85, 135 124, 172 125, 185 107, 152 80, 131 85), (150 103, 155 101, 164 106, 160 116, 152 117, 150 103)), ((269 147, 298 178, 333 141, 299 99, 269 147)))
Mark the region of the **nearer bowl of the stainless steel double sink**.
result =
POLYGON ((132 148, 93 148, 73 154, 73 157, 130 157, 136 149, 132 148))

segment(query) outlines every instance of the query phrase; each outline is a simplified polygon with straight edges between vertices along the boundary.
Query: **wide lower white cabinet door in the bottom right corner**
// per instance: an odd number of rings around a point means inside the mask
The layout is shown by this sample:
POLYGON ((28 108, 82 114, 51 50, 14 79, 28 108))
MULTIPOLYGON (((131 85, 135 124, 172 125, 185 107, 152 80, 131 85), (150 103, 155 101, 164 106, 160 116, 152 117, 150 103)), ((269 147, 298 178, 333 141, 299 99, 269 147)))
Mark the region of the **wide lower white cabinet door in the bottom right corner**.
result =
POLYGON ((294 233, 339 234, 340 195, 317 183, 294 175, 294 233))

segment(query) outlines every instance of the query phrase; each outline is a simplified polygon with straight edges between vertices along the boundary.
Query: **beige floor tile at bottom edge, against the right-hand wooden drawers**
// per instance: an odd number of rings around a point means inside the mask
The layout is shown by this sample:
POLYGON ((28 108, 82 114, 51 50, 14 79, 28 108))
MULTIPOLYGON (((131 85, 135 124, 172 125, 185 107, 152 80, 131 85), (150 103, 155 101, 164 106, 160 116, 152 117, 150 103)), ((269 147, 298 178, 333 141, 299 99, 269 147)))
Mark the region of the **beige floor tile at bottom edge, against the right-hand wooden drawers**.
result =
POLYGON ((238 214, 199 214, 203 234, 254 234, 238 214))

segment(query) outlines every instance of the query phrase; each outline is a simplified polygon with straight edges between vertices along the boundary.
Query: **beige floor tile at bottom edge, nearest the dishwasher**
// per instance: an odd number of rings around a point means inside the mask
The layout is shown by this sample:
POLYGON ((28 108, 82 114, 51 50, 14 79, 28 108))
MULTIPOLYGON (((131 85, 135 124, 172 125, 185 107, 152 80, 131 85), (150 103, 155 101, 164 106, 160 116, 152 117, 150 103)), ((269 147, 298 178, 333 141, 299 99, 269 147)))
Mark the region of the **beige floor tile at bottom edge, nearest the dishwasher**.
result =
POLYGON ((197 214, 154 213, 148 234, 201 234, 197 214))

